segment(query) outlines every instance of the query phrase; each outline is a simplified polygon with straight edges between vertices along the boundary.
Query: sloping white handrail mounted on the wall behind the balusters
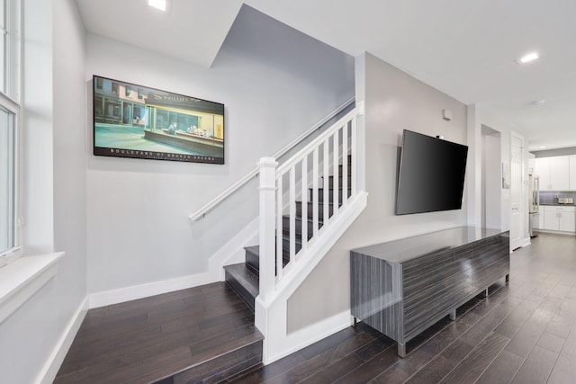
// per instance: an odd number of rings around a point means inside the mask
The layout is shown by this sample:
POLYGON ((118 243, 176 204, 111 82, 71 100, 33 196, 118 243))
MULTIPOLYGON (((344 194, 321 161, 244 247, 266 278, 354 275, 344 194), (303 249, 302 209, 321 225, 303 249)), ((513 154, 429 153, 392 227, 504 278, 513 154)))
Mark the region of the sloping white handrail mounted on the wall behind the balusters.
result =
MULTIPOLYGON (((305 138, 308 138, 312 133, 314 133, 316 130, 320 129, 320 127, 322 127, 328 121, 332 120, 335 116, 337 116, 338 113, 344 111, 348 105, 350 105, 351 103, 354 103, 355 99, 356 99, 355 97, 351 97, 346 102, 340 104, 336 110, 331 112, 324 119, 318 121, 316 124, 312 125, 311 128, 302 132, 302 135, 298 136, 297 138, 294 138, 291 142, 289 142, 284 147, 282 147, 278 152, 276 152, 273 155, 273 157, 275 159, 277 159, 279 157, 284 156, 284 154, 286 154, 288 151, 290 151, 293 147, 300 144, 302 142, 302 140, 304 140, 305 138)), ((242 177, 240 180, 238 180, 238 182, 233 183, 224 192, 221 192, 218 196, 213 198, 211 201, 208 201, 206 204, 204 204, 202 206, 202 208, 200 208, 199 210, 196 210, 192 214, 188 215, 188 219, 191 219, 193 221, 195 221, 197 219, 202 219, 206 213, 208 213, 210 210, 212 210, 214 207, 216 207, 218 204, 220 204, 221 201, 224 201, 225 199, 227 199, 232 193, 236 192, 242 185, 244 185, 245 183, 249 182, 254 177, 256 177, 259 172, 260 172, 260 168, 258 166, 255 167, 250 172, 248 172, 246 175, 244 175, 244 177, 242 177)))

